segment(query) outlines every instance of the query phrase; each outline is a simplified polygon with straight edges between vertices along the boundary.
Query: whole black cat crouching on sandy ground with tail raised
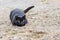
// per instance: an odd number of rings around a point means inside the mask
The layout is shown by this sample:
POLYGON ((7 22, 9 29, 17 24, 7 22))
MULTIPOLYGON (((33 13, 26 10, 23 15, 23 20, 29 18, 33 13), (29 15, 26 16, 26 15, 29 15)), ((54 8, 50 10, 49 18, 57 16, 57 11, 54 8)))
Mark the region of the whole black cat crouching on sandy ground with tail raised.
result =
POLYGON ((10 20, 13 25, 24 26, 27 24, 27 19, 25 13, 27 13, 34 6, 28 7, 26 10, 14 9, 10 13, 10 20))

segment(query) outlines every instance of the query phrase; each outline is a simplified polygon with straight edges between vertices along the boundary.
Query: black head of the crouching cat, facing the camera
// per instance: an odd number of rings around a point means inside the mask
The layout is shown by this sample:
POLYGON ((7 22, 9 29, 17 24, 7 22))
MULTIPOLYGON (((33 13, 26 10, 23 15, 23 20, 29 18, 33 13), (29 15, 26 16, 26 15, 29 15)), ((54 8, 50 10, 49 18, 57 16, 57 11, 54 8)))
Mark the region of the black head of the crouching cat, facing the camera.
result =
POLYGON ((27 23, 26 16, 15 16, 15 25, 17 26, 24 26, 27 23))

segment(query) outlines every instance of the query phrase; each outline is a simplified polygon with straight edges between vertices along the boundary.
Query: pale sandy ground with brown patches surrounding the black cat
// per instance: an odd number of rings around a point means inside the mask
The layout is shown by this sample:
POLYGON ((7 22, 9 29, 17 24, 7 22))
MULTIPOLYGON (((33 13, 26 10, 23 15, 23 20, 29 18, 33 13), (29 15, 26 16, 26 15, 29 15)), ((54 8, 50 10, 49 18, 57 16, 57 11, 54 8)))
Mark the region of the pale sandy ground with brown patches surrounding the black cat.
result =
POLYGON ((0 40, 60 40, 60 0, 0 0, 0 40), (13 26, 11 10, 31 5, 28 24, 13 26))

